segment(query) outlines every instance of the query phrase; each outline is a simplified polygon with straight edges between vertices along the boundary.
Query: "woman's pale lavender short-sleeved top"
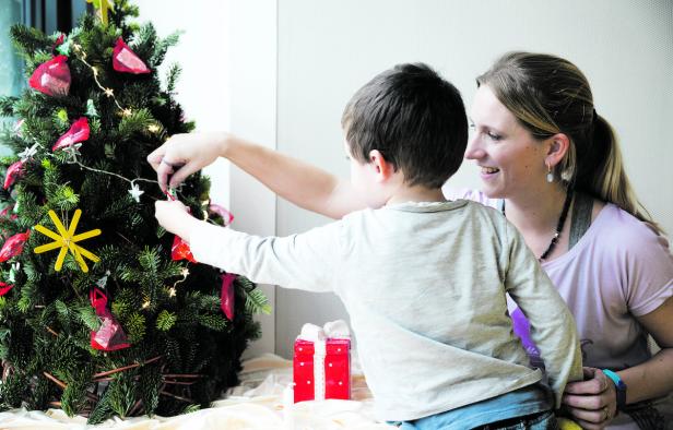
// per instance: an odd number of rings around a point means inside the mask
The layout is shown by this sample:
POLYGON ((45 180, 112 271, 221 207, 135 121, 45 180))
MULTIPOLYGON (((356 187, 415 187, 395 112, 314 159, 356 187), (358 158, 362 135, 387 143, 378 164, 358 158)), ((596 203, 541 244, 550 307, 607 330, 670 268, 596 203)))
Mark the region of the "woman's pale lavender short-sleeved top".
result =
POLYGON ((634 316, 673 296, 664 237, 607 204, 575 247, 542 267, 575 315, 585 366, 621 370, 651 357, 634 316))

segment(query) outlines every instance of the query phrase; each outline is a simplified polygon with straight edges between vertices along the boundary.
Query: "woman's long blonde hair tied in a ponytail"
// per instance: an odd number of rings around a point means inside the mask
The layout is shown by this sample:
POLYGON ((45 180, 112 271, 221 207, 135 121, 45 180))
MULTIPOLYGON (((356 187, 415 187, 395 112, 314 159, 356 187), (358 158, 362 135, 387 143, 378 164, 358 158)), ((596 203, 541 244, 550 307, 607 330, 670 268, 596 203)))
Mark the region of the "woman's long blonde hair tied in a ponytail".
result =
POLYGON ((589 81, 570 61, 546 53, 505 53, 476 79, 535 139, 564 133, 570 140, 554 174, 570 188, 614 203, 658 234, 662 229, 628 181, 610 123, 597 114, 589 81))

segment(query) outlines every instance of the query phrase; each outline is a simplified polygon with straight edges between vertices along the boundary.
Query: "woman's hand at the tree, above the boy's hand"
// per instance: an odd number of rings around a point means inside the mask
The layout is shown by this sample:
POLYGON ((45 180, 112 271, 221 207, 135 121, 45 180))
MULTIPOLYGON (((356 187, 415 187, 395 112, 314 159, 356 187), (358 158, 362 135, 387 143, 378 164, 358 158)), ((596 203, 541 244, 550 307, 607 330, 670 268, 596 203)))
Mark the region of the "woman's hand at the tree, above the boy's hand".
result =
POLYGON ((147 163, 156 170, 162 191, 176 188, 194 171, 212 164, 224 152, 226 133, 175 134, 147 155, 147 163), (170 179, 170 183, 168 180, 170 179))

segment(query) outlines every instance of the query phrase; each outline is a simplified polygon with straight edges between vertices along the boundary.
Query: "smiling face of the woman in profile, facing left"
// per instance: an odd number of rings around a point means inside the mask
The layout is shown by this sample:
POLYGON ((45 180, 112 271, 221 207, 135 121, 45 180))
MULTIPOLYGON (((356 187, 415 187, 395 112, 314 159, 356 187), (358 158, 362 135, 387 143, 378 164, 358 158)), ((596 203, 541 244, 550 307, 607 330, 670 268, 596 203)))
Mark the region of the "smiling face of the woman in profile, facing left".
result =
POLYGON ((545 183, 544 145, 523 128, 487 85, 472 104, 465 158, 481 168, 482 191, 492 199, 524 195, 545 183))

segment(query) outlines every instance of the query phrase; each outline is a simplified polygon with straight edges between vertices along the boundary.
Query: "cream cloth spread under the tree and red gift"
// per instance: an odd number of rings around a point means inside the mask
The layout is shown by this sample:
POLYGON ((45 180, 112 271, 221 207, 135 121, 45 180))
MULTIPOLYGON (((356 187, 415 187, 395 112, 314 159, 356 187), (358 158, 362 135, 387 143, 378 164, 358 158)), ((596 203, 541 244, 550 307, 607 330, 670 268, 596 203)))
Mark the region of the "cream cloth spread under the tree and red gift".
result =
MULTIPOLYGON (((264 355, 244 362, 240 385, 229 390, 213 407, 177 417, 135 417, 109 419, 96 429, 123 430, 206 430, 206 429, 394 429, 377 422, 373 399, 353 363, 352 401, 302 402, 292 404, 284 391, 292 383, 292 361, 264 355)), ((70 418, 60 409, 47 411, 13 409, 0 413, 0 429, 74 430, 92 429, 86 418, 70 418)))

